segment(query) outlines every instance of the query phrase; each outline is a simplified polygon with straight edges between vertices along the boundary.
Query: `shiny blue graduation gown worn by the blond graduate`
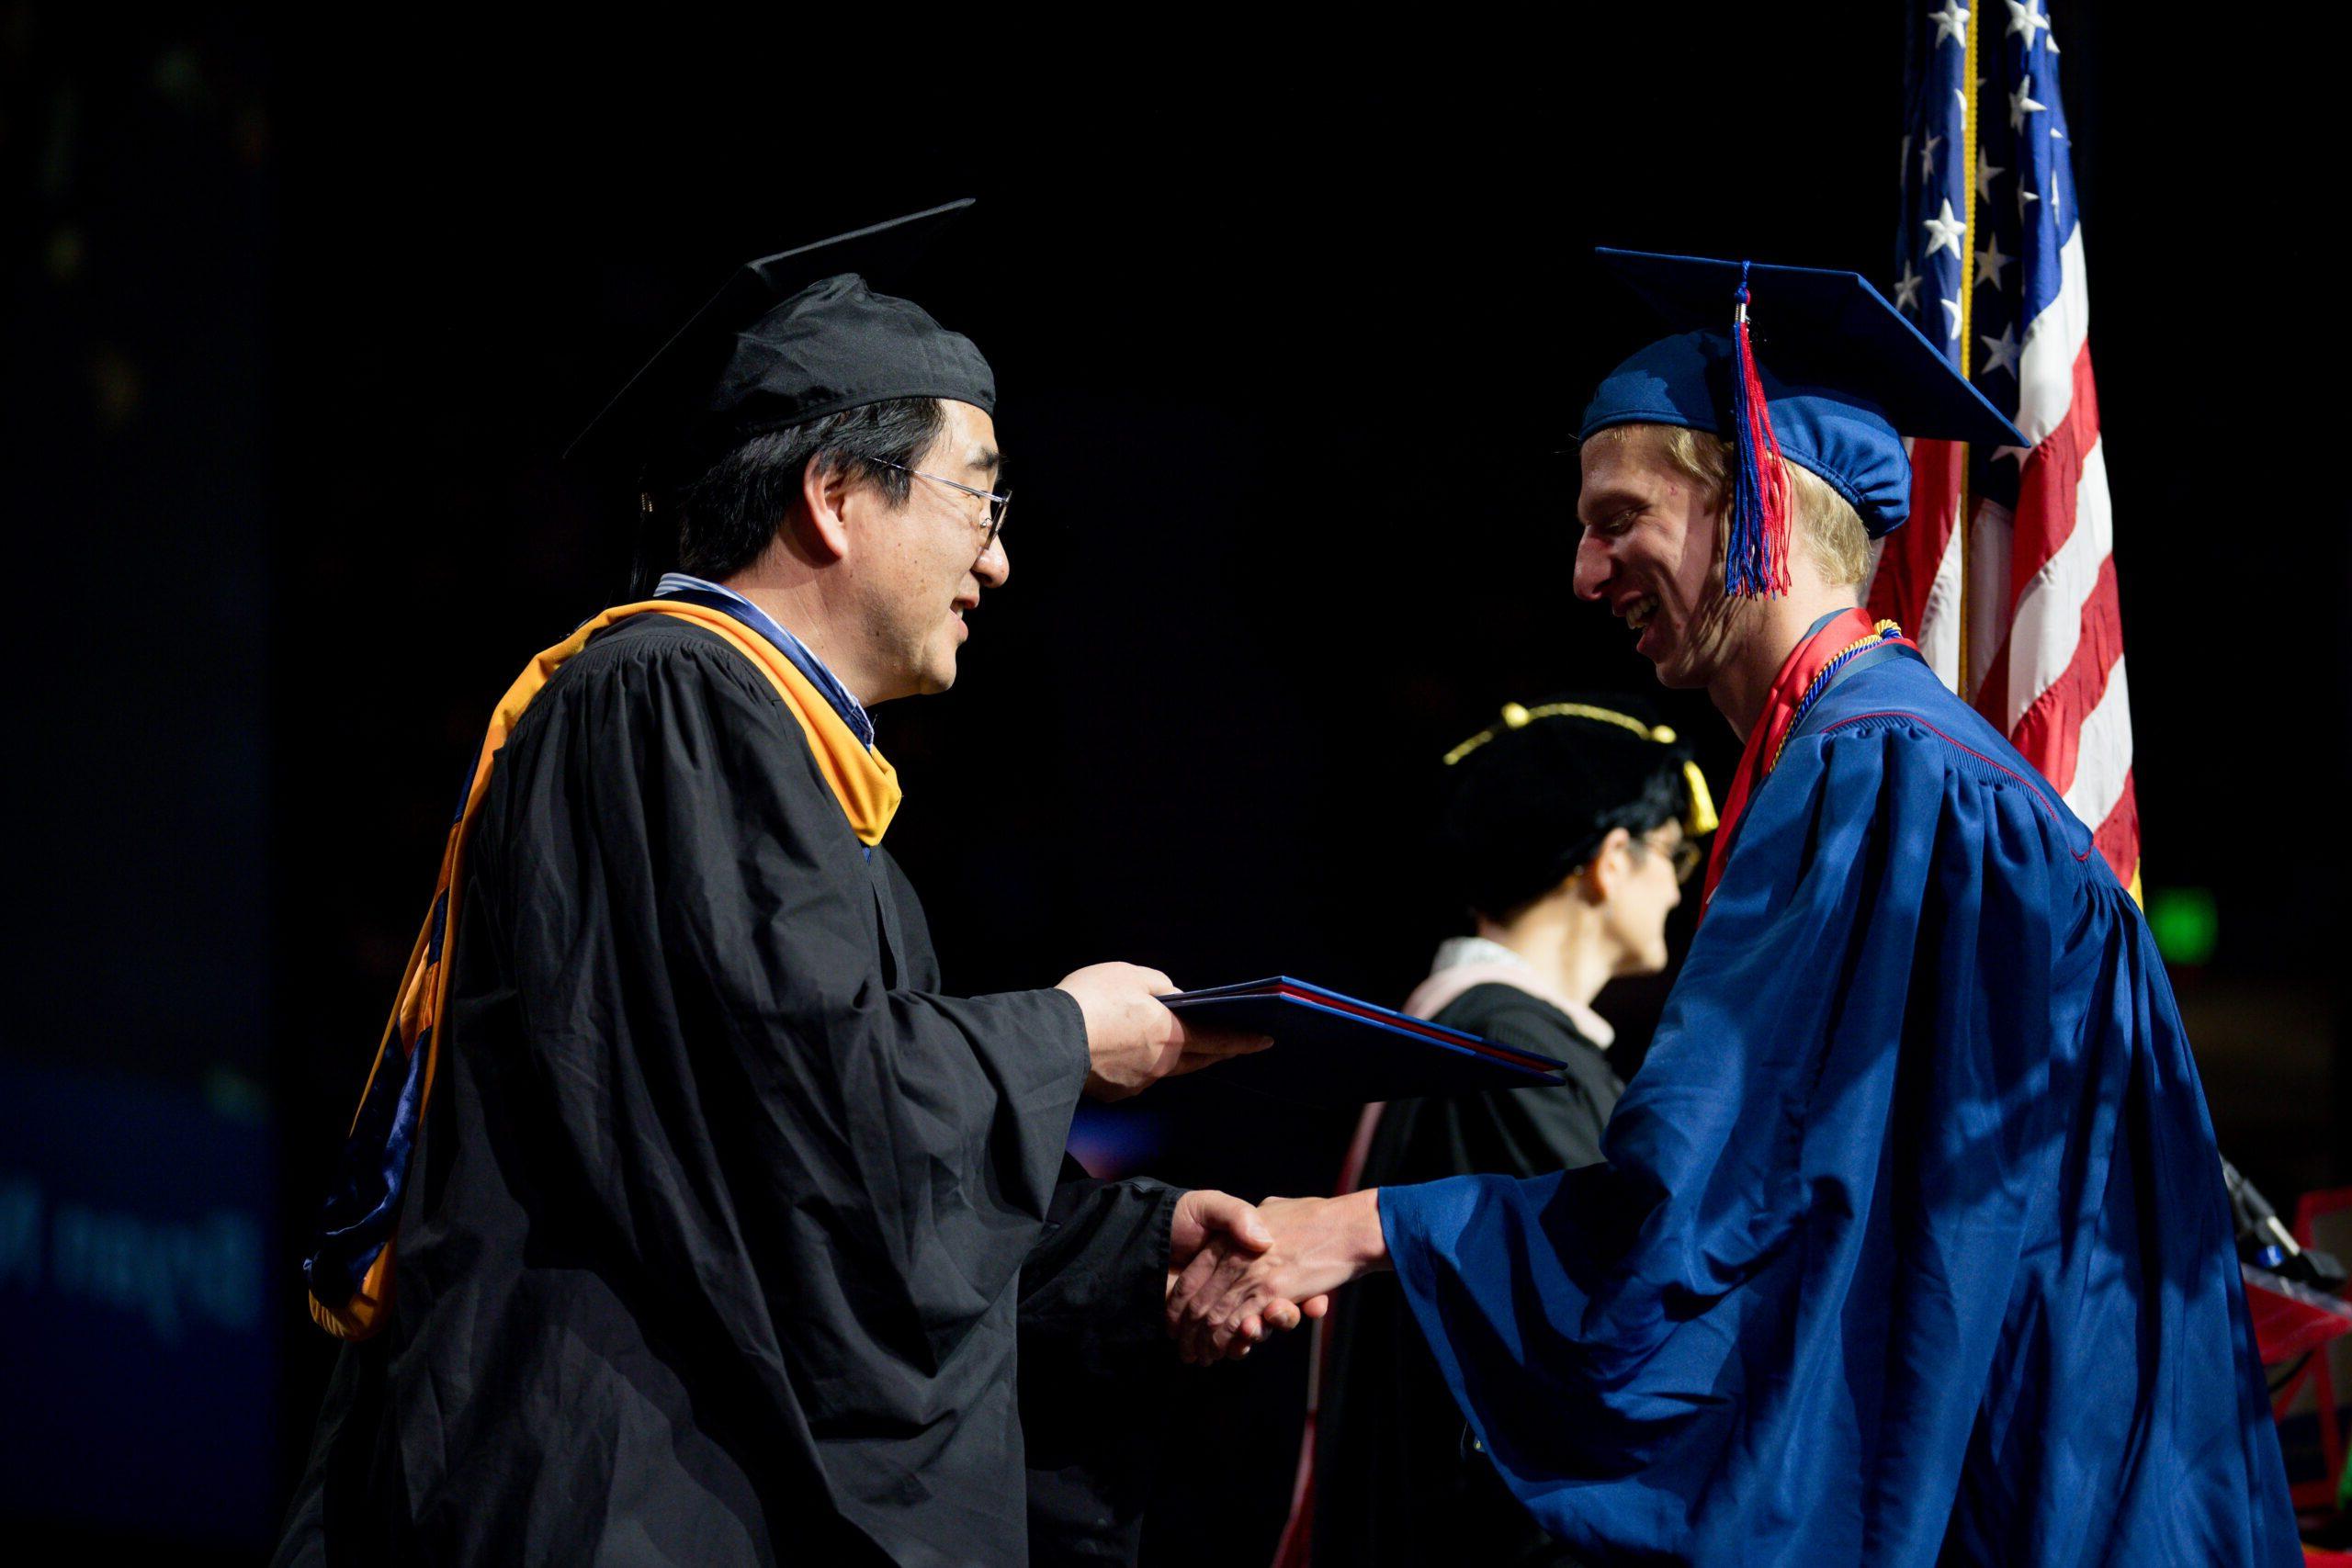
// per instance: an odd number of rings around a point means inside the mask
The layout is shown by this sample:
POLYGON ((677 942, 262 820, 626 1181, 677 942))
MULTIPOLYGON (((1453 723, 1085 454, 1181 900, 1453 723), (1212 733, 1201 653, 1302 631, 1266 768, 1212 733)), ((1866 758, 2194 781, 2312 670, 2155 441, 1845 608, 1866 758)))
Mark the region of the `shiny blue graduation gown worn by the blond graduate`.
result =
POLYGON ((2194 1065, 2084 851, 1912 717, 1799 738, 1606 1164, 1381 1192, 1538 1523, 1613 1561, 2293 1561, 2194 1065))

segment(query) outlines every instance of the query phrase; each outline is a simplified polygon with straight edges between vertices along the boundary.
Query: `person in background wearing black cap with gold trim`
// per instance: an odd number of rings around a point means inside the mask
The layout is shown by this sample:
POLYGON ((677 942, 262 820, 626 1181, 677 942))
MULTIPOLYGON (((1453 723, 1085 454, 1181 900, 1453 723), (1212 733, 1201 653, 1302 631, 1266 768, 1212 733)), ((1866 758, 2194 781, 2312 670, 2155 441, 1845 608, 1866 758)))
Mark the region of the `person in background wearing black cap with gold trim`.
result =
MULTIPOLYGON (((1437 865, 1475 933, 1439 945, 1404 1011, 1541 1051, 1566 1074, 1545 1088, 1367 1105, 1341 1192, 1602 1159, 1625 1084, 1604 1056, 1616 1030, 1592 1001, 1609 980, 1665 969, 1665 917, 1715 830, 1691 752, 1635 698, 1510 703, 1444 764, 1437 865)), ((1463 1443, 1395 1281, 1348 1291, 1317 1335, 1312 1561, 1576 1561, 1463 1443)))

